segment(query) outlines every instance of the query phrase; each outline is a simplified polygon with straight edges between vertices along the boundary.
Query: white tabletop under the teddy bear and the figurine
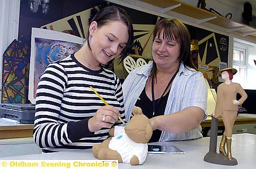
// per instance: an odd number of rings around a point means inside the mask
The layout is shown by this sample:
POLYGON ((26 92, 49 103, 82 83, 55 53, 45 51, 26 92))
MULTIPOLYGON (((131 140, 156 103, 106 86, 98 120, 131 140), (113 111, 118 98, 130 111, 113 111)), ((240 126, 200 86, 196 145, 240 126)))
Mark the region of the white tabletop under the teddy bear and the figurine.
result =
MULTIPOLYGON (((217 149, 221 136, 218 137, 217 149)), ((154 143, 156 144, 156 143, 154 143)), ((186 154, 148 154, 143 165, 132 166, 131 164, 119 163, 119 168, 256 168, 256 135, 233 134, 232 156, 238 160, 238 165, 225 166, 203 161, 209 150, 209 137, 186 140, 167 141, 157 144, 173 145, 183 150, 186 154)), ((218 152, 218 150, 217 150, 218 152)), ((80 150, 47 154, 33 154, 25 156, 4 157, 0 159, 95 159, 92 150, 80 150)))

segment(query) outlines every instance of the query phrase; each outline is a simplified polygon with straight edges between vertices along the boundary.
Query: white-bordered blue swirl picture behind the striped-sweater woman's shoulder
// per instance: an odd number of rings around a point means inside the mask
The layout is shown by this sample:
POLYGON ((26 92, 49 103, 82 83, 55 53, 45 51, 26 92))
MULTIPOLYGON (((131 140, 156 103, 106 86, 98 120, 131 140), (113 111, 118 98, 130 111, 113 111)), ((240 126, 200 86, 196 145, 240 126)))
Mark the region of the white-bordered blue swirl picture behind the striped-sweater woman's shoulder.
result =
POLYGON ((63 57, 78 51, 83 38, 57 31, 32 28, 29 74, 29 100, 35 103, 35 94, 40 76, 46 67, 63 57))

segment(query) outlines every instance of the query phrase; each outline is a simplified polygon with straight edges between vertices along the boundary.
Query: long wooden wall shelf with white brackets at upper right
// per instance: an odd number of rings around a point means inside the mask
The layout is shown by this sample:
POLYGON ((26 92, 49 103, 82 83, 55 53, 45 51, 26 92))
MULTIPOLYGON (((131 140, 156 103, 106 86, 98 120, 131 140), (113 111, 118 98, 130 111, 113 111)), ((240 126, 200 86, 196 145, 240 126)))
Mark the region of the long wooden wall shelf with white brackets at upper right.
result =
POLYGON ((241 36, 253 36, 256 37, 256 28, 244 25, 225 18, 223 16, 211 13, 201 8, 194 7, 192 5, 176 1, 176 0, 141 0, 142 2, 162 8, 162 13, 169 10, 198 19, 198 24, 203 22, 209 22, 214 25, 223 27, 227 33, 238 32, 241 36))

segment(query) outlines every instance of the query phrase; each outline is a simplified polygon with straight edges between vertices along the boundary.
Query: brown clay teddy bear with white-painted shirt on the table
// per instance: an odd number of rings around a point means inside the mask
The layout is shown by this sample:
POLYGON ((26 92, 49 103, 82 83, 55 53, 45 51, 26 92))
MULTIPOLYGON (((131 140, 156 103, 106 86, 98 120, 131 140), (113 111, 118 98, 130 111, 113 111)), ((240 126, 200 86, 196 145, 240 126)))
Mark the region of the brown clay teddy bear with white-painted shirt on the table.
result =
POLYGON ((132 165, 143 164, 147 155, 147 142, 153 130, 141 108, 133 108, 133 118, 126 126, 115 126, 110 137, 93 146, 93 155, 100 160, 118 160, 132 165), (113 132, 114 130, 114 132, 113 132))

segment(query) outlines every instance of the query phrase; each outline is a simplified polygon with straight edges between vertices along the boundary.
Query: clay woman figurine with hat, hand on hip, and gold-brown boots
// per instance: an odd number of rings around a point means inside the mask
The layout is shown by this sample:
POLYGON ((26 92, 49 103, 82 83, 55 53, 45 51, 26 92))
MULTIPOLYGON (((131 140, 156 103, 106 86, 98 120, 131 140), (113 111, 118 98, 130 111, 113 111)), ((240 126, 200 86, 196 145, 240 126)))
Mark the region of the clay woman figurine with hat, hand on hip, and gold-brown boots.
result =
POLYGON ((220 143, 220 153, 232 160, 231 156, 231 137, 234 121, 238 113, 238 106, 241 106, 247 98, 244 89, 238 83, 233 83, 233 75, 237 73, 237 69, 225 68, 220 70, 219 76, 224 80, 224 83, 218 86, 217 103, 215 107, 214 117, 219 119, 222 117, 225 126, 225 131, 220 143), (237 93, 242 97, 237 100, 237 93), (227 153, 225 151, 225 144, 227 144, 227 153))

